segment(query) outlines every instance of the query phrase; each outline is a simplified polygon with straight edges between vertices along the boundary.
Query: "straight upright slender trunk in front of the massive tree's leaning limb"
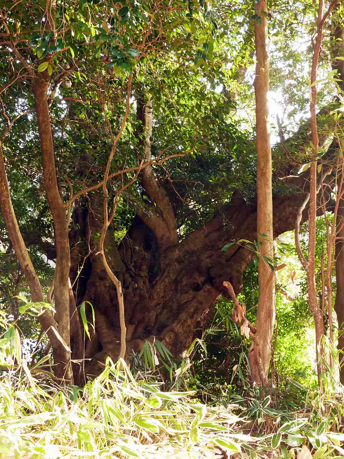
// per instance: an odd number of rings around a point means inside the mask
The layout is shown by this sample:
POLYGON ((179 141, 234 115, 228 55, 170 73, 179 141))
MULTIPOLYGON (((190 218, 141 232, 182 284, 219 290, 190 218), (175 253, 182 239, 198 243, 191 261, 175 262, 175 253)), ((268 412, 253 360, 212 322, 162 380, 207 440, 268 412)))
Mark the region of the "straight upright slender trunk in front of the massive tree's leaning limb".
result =
MULTIPOLYGON (((257 124, 257 233, 263 256, 273 258, 273 201, 272 201, 272 159, 270 146, 270 123, 268 109, 269 56, 268 56, 268 12, 267 3, 261 0, 258 6, 261 21, 255 23, 256 38, 256 95, 257 124), (260 14, 260 12, 266 14, 260 14), (263 236, 262 236, 263 235, 263 236), (265 236, 264 236, 265 235, 265 236)), ((251 371, 254 380, 269 386, 268 370, 271 357, 273 325, 275 321, 274 282, 271 268, 264 259, 258 265, 259 299, 257 309, 257 333, 251 371)))

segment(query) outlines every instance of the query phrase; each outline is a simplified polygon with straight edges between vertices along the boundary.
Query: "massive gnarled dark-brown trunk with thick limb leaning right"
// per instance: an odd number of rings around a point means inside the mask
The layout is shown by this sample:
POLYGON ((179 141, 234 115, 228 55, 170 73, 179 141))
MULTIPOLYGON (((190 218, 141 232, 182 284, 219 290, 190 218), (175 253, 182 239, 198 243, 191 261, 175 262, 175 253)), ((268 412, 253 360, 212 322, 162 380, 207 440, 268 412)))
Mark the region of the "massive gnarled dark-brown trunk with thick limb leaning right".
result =
MULTIPOLYGON (((294 228, 303 199, 304 194, 274 198, 274 237, 294 228)), ((91 360, 85 362, 85 373, 97 375, 107 355, 114 360, 119 355, 120 320, 115 286, 95 255, 96 235, 102 227, 102 196, 92 195, 90 206, 80 203, 73 213, 71 281, 90 249, 74 290, 77 306, 89 301, 95 310, 95 333, 86 342, 85 358, 91 360)), ((221 293, 226 295, 223 281, 230 281, 238 293, 243 272, 253 257, 251 251, 237 245, 227 252, 221 248, 230 240, 253 241, 256 237, 257 206, 238 198, 204 227, 164 252, 159 251, 155 235, 139 217, 134 218, 119 247, 110 227, 104 247, 107 261, 123 286, 126 359, 153 336, 175 356, 183 353, 215 300, 221 293)), ((91 320, 91 308, 86 309, 91 320)))

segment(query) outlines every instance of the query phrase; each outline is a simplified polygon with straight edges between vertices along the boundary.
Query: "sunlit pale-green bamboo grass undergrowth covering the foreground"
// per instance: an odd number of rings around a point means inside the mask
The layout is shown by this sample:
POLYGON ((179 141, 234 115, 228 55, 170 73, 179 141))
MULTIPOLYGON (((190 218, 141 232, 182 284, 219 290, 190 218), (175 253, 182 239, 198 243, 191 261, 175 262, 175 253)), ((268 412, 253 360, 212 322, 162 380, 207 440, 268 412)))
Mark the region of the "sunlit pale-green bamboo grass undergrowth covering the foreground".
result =
POLYGON ((330 372, 321 392, 298 388, 294 409, 257 386, 240 395, 224 386, 200 403, 199 388, 187 390, 189 358, 176 364, 158 341, 132 370, 108 358, 79 388, 58 384, 46 357, 29 369, 18 337, 8 326, 0 339, 0 459, 344 457, 344 402, 330 372))

